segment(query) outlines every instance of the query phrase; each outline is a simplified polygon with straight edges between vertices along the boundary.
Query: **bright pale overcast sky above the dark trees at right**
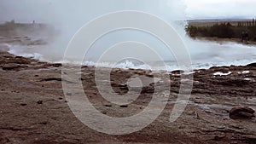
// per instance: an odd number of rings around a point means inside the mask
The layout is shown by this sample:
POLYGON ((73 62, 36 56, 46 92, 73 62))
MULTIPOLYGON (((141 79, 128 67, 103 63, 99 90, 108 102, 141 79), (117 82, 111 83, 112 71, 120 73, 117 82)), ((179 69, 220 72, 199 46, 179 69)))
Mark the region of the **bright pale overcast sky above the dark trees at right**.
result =
POLYGON ((185 0, 190 18, 256 17, 256 0, 185 0))

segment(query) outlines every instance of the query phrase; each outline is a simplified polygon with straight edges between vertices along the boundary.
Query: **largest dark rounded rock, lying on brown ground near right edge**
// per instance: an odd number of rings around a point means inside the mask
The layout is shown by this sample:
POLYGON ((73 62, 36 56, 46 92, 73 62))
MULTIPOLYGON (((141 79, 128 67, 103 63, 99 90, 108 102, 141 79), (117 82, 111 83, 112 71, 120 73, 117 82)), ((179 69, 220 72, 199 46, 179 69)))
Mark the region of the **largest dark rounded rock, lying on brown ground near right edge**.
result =
POLYGON ((235 107, 230 110, 230 118, 232 119, 250 119, 255 118, 254 113, 255 111, 249 107, 235 107))

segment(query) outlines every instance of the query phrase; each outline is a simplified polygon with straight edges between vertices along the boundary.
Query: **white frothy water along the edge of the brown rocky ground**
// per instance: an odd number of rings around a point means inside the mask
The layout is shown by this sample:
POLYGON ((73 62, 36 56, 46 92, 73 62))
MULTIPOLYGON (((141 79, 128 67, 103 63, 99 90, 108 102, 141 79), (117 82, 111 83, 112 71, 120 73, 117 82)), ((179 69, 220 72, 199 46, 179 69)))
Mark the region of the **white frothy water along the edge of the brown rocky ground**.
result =
MULTIPOLYGON (((193 43, 190 41, 189 43, 193 43)), ((17 45, 2 43, 9 47, 9 53, 14 55, 20 55, 38 60, 44 60, 55 63, 73 63, 80 65, 81 63, 75 60, 61 59, 62 55, 47 55, 44 53, 44 49, 48 46, 37 45, 17 45)), ((188 45, 188 44, 187 44, 188 45)), ((207 41, 195 41, 195 43, 189 45, 189 54, 192 59, 193 69, 208 69, 212 66, 245 66, 249 63, 256 61, 256 46, 242 45, 240 43, 214 43, 207 41), (195 46, 194 48, 191 48, 195 46)), ((148 64, 136 64, 134 61, 125 60, 120 63, 101 62, 85 60, 82 65, 86 66, 103 66, 103 67, 118 67, 118 68, 134 68, 134 69, 151 69, 151 70, 178 70, 180 67, 175 60, 166 60, 166 66, 161 66, 160 61, 150 61, 148 64)))

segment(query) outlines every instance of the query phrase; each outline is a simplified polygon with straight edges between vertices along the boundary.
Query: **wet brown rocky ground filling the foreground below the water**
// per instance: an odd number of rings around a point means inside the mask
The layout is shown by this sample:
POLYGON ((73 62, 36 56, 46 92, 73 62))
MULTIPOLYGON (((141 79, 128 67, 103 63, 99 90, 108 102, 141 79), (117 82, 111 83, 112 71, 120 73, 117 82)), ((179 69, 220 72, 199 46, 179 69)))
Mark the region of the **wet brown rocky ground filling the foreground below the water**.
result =
MULTIPOLYGON (((0 49, 0 143, 256 143, 256 120, 230 118, 234 107, 256 110, 256 63, 248 66, 212 67, 193 73, 194 86, 189 104, 180 118, 169 122, 177 99, 182 71, 165 72, 171 79, 171 95, 165 110, 154 123, 128 135, 106 135, 91 130, 68 107, 61 83, 61 64, 10 55, 0 49)), ((137 101, 118 106, 105 101, 96 88, 95 67, 84 66, 81 81, 91 103, 103 114, 128 117, 148 106, 154 86, 143 85, 137 101)), ((101 70, 104 72, 104 68, 101 70)), ((153 78, 144 70, 113 69, 111 85, 124 95, 127 79, 137 74, 153 78)), ((188 74, 187 74, 188 75, 188 74)), ((63 83, 71 83, 64 79, 63 83)), ((104 84, 102 79, 102 84, 104 84)))

